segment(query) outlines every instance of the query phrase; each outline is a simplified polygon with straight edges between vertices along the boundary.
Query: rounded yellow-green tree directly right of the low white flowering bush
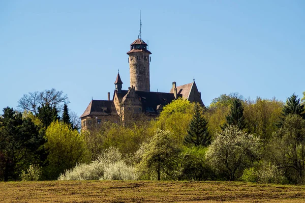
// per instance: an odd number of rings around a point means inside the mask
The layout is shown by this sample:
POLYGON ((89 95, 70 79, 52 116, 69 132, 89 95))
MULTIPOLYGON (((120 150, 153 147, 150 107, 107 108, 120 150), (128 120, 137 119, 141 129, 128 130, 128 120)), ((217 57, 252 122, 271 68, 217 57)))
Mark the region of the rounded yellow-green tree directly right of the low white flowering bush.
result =
POLYGON ((179 176, 178 160, 181 149, 170 131, 158 129, 148 144, 137 169, 144 179, 176 179, 179 176))

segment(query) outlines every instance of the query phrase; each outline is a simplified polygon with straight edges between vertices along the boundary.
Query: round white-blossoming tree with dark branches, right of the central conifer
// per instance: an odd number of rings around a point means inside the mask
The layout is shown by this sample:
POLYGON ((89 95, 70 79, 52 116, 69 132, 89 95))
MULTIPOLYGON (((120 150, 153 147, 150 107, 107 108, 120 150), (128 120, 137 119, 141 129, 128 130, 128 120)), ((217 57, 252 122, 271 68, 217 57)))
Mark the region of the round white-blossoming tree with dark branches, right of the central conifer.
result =
POLYGON ((227 174, 228 180, 234 181, 236 174, 241 176, 243 169, 258 158, 259 147, 259 138, 231 125, 217 134, 208 147, 206 160, 219 173, 227 174))

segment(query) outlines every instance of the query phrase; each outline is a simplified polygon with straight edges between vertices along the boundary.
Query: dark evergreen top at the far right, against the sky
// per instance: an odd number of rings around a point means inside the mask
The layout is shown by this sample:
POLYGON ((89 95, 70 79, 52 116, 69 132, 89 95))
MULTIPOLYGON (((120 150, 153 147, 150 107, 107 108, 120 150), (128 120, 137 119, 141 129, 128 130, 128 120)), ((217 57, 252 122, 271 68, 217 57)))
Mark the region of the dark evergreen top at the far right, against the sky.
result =
POLYGON ((297 99, 297 95, 293 93, 293 95, 286 100, 282 114, 284 117, 287 117, 289 114, 296 114, 305 119, 304 104, 300 103, 300 99, 297 99))

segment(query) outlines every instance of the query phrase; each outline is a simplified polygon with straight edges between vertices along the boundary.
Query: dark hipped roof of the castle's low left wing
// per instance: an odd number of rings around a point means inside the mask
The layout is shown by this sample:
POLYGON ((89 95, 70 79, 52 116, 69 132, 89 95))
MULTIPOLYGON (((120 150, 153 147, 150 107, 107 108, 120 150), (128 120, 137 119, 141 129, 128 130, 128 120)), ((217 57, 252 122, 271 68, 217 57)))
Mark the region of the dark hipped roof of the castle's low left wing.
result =
POLYGON ((92 100, 80 118, 88 115, 110 115, 116 113, 115 106, 109 100, 92 100))

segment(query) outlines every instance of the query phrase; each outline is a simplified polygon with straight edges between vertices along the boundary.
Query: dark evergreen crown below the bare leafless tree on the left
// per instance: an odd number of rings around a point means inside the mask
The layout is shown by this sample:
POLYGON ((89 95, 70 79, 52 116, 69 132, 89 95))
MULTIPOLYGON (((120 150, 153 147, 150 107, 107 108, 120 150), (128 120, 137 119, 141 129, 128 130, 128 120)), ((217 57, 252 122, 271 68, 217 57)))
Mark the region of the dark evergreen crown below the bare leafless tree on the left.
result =
POLYGON ((43 123, 44 128, 47 128, 53 121, 58 121, 58 111, 56 107, 51 107, 50 105, 42 105, 38 107, 37 117, 43 123))

